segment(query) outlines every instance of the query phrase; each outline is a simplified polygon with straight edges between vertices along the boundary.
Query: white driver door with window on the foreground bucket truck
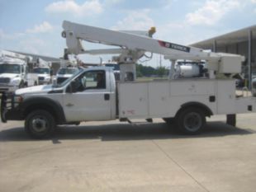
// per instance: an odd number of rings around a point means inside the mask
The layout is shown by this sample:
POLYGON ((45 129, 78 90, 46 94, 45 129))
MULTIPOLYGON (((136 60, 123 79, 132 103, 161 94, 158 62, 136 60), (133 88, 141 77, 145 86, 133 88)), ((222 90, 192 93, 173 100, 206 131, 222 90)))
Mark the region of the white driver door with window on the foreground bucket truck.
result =
POLYGON ((87 71, 73 80, 73 90, 66 92, 63 100, 68 122, 111 119, 110 85, 106 80, 104 70, 87 71), (98 73, 103 74, 103 87, 97 87, 98 73))

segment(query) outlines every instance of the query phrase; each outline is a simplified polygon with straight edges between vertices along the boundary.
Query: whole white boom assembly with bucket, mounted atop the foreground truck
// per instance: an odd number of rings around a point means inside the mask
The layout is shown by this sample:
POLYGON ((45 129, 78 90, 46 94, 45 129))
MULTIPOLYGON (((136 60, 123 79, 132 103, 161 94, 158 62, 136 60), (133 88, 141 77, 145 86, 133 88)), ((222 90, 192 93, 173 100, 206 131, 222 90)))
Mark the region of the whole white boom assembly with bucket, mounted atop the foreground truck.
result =
MULTIPOLYGON (((205 52, 203 49, 155 40, 125 31, 107 30, 70 21, 64 21, 63 28, 62 36, 66 38, 69 54, 121 54, 119 63, 135 63, 145 52, 163 54, 164 59, 169 59, 172 63, 177 59, 205 60, 211 78, 215 77, 215 73, 240 73, 241 63, 244 61, 244 57, 240 55, 205 52), (85 50, 81 40, 114 45, 121 49, 85 50)), ((174 68, 171 69, 173 70, 174 68)))

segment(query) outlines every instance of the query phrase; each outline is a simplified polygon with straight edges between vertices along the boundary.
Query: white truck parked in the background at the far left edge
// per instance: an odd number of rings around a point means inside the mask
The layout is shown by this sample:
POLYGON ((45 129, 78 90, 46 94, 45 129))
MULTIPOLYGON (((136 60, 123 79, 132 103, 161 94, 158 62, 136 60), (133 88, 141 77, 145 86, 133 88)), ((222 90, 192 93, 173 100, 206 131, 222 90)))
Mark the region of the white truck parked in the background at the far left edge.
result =
POLYGON ((37 84, 36 75, 28 73, 29 59, 23 54, 0 50, 0 92, 13 92, 37 84))

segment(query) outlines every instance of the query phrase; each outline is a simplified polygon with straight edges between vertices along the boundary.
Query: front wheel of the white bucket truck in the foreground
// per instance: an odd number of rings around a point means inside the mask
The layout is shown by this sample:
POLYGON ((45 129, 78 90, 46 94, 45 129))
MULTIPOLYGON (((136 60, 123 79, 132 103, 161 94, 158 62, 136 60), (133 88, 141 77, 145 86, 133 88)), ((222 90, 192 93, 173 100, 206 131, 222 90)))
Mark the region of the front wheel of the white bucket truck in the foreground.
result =
POLYGON ((55 119, 46 110, 33 110, 25 119, 25 130, 31 138, 45 138, 55 129, 55 119))

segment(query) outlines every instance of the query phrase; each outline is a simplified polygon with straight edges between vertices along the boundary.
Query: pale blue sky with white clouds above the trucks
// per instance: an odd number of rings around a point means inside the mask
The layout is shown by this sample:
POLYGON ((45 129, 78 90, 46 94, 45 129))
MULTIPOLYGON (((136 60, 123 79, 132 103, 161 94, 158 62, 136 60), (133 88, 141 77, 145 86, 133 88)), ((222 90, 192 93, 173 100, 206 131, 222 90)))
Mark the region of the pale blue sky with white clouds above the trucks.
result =
MULTIPOLYGON (((64 20, 111 30, 155 26, 155 39, 186 45, 255 25, 256 0, 0 0, 0 49, 59 58, 66 47, 64 20)), ((98 56, 79 58, 100 62, 98 56)), ((158 66, 159 60, 145 65, 158 66)))

